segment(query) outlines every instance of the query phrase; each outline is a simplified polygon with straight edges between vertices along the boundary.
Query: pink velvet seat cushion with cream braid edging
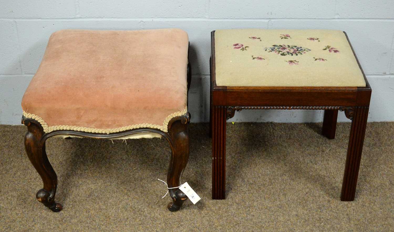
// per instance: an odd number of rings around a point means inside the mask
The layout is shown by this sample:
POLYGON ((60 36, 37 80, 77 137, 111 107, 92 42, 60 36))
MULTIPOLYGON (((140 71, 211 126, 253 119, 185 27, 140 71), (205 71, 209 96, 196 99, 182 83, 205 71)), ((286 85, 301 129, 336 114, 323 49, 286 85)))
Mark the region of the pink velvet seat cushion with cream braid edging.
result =
POLYGON ((167 132, 186 113, 188 35, 180 29, 53 33, 23 98, 45 132, 167 132))

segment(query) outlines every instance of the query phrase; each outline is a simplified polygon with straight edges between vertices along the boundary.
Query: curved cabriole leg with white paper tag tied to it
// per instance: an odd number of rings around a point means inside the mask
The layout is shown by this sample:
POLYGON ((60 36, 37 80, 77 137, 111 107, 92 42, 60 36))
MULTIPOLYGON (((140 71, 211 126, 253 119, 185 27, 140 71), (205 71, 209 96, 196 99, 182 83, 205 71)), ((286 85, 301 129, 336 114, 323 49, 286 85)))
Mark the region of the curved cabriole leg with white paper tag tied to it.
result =
MULTIPOLYGON (((167 183, 169 188, 181 185, 180 177, 189 159, 189 133, 187 122, 176 121, 171 125, 169 131, 171 135, 172 156, 167 172, 167 183)), ((170 211, 177 211, 188 197, 179 188, 169 189, 169 194, 173 202, 167 208, 170 211)))

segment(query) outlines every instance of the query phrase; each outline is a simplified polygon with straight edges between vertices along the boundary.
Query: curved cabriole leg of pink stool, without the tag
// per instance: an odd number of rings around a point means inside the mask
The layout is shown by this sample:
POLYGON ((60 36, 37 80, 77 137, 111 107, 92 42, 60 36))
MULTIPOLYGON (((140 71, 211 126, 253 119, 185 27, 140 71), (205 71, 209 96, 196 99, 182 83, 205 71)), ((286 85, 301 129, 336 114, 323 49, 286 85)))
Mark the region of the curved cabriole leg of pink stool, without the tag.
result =
POLYGON ((22 120, 23 124, 28 127, 28 132, 24 139, 27 156, 44 183, 44 188, 38 190, 35 197, 53 212, 59 212, 63 206, 55 202, 58 177, 46 156, 45 141, 40 141, 44 135, 43 128, 35 120, 26 118, 22 120))

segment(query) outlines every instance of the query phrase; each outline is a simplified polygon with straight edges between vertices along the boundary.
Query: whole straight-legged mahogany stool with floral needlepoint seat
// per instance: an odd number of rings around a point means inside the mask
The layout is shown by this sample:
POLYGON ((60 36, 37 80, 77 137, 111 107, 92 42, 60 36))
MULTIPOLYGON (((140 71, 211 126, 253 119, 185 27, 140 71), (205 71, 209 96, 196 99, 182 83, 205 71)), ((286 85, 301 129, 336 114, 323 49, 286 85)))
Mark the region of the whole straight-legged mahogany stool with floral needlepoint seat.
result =
POLYGON ((324 110, 335 138, 339 111, 352 120, 342 201, 353 201, 371 88, 345 32, 230 29, 211 33, 212 199, 225 199, 226 120, 244 109, 324 110))

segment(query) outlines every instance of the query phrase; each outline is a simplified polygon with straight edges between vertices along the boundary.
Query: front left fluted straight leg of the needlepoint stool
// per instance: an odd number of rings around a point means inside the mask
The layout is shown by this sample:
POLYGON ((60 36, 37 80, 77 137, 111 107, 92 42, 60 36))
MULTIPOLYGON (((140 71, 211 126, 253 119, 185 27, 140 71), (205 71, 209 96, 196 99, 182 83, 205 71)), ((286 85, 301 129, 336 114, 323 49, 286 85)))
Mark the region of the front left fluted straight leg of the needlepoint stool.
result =
POLYGON ((212 199, 225 199, 226 115, 225 106, 213 106, 212 117, 212 199))

